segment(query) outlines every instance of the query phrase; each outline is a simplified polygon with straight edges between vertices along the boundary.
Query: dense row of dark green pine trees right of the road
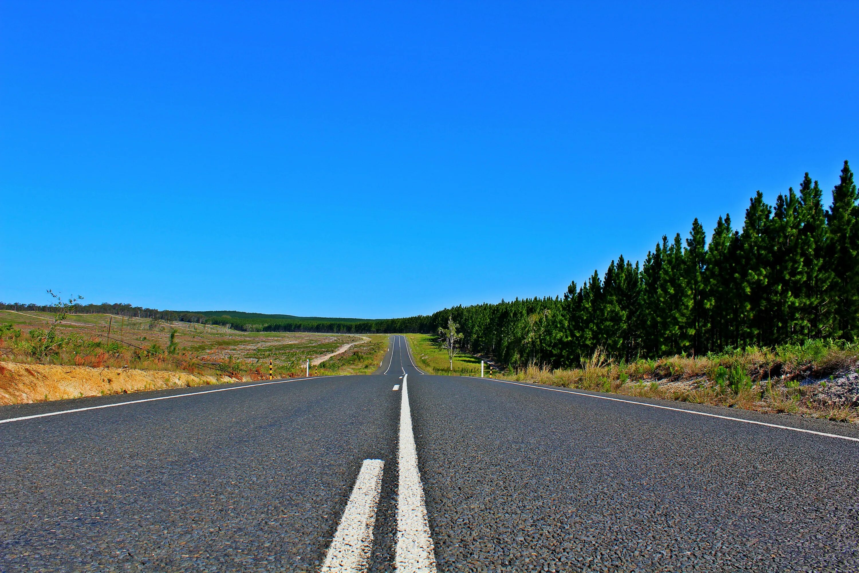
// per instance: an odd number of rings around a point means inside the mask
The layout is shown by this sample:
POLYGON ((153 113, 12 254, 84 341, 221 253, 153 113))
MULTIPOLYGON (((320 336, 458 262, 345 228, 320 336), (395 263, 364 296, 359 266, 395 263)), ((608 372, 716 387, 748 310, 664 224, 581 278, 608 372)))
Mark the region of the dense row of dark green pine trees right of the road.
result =
POLYGON ((740 229, 719 217, 707 241, 696 219, 643 264, 618 257, 562 297, 449 308, 463 344, 511 366, 576 366, 602 349, 627 361, 702 355, 809 338, 859 339, 859 207, 844 162, 832 204, 808 174, 766 204, 750 201, 740 229))

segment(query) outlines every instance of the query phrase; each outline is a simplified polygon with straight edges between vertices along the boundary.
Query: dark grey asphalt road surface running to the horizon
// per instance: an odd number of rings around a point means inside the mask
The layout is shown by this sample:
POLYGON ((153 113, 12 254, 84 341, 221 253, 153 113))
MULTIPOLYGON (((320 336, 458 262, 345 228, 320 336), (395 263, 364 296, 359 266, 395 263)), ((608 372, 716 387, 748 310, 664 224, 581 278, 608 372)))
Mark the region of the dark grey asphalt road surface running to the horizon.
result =
POLYGON ((692 411, 853 427, 423 375, 398 337, 370 376, 0 407, 0 571, 319 570, 368 459, 394 570, 404 374, 438 570, 859 570, 859 442, 692 411))

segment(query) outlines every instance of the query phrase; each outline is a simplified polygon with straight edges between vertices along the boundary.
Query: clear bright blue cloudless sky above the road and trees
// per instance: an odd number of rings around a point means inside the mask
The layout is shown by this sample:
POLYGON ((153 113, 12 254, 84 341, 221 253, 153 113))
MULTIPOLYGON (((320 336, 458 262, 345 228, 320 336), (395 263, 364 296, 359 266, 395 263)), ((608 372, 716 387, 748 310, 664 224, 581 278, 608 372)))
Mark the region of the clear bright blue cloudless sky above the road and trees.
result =
POLYGON ((0 300, 561 294, 859 167, 859 3, 0 3, 0 300))

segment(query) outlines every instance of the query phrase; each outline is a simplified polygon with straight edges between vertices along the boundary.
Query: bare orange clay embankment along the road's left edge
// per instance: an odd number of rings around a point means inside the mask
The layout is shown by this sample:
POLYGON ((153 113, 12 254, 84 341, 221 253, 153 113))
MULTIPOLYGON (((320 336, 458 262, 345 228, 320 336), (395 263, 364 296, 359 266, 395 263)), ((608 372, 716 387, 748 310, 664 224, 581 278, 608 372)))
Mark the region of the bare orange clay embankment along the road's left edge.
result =
POLYGON ((0 405, 222 384, 226 375, 0 362, 0 405))

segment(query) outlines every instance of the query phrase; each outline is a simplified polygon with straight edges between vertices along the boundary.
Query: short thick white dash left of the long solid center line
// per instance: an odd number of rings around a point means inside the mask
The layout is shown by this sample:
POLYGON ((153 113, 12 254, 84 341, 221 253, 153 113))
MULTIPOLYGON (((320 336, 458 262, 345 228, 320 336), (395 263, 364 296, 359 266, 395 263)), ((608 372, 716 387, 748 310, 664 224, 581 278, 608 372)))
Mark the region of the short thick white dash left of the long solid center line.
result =
POLYGON ((334 533, 334 539, 328 547, 322 573, 367 570, 384 465, 382 460, 364 460, 337 533, 334 533))

